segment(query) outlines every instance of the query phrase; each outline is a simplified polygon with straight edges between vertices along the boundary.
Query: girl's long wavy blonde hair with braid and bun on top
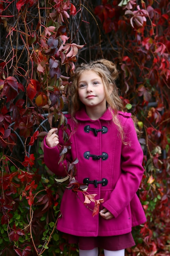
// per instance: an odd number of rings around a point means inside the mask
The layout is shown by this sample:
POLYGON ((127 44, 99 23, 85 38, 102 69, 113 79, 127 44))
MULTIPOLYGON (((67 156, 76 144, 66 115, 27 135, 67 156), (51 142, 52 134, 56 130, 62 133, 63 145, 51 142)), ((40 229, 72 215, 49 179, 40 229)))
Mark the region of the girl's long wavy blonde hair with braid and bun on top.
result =
POLYGON ((107 103, 107 108, 110 110, 113 116, 113 122, 117 126, 117 130, 121 136, 123 141, 124 132, 123 128, 121 127, 120 121, 117 118, 118 111, 124 111, 123 102, 119 97, 118 89, 115 83, 117 80, 119 72, 116 68, 116 65, 112 61, 108 61, 106 59, 99 59, 97 61, 91 61, 89 63, 82 63, 81 65, 77 66, 73 76, 71 77, 72 85, 71 85, 71 117, 75 120, 75 113, 84 106, 84 104, 80 101, 78 95, 78 80, 79 76, 85 70, 92 70, 96 72, 98 76, 102 78, 104 83, 104 92, 105 98, 107 103))

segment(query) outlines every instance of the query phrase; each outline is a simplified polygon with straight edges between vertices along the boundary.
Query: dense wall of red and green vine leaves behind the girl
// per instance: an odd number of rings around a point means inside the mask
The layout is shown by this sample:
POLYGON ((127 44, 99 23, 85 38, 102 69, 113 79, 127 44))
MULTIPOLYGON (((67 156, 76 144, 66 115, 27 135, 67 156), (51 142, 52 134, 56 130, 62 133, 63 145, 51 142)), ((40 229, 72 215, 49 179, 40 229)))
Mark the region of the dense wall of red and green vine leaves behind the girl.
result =
POLYGON ((170 254, 169 10, 168 0, 0 1, 1 255, 78 255, 55 229, 64 185, 44 166, 42 139, 65 124, 75 65, 101 57, 117 63, 143 132, 147 222, 126 253, 170 254))

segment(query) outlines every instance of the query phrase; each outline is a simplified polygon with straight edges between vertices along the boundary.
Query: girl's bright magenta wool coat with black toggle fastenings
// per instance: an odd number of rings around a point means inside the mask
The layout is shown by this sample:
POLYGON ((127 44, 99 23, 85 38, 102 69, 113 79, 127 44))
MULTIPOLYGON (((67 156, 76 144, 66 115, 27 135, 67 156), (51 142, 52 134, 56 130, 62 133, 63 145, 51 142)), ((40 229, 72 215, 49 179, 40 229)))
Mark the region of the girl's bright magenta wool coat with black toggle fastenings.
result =
MULTIPOLYGON (((82 193, 78 192, 81 202, 73 191, 66 189, 60 207, 62 217, 57 222, 58 230, 76 236, 114 236, 129 233, 133 226, 146 221, 136 194, 144 173, 143 151, 130 114, 119 112, 118 117, 125 132, 124 141, 128 142, 126 145, 121 142, 109 110, 95 121, 88 117, 84 109, 78 111, 76 119, 79 124, 71 136, 71 152, 68 154, 69 161, 76 157, 79 159, 75 176, 79 183, 86 178, 89 181, 108 181, 105 186, 88 184, 87 191, 97 194, 95 199, 104 198, 100 210, 105 207, 114 218, 105 220, 99 214, 93 217, 93 212, 83 204, 82 193)), ((67 115, 67 118, 71 125, 70 116, 67 115)), ((72 130, 74 128, 72 126, 72 130)), ((58 164, 59 159, 58 147, 49 148, 44 140, 46 166, 63 177, 66 172, 63 165, 58 164)), ((88 207, 93 209, 94 203, 91 202, 88 207)))

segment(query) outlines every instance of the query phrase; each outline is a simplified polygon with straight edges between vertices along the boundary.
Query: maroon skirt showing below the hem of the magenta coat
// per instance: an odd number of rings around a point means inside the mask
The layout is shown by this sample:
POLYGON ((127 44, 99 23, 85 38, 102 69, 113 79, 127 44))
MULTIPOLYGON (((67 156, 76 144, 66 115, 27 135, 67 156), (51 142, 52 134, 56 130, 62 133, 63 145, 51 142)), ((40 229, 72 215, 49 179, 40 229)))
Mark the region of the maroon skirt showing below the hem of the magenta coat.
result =
POLYGON ((68 243, 79 245, 81 250, 92 250, 95 247, 108 251, 118 251, 135 245, 131 232, 119 236, 73 236, 68 234, 68 243))

